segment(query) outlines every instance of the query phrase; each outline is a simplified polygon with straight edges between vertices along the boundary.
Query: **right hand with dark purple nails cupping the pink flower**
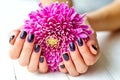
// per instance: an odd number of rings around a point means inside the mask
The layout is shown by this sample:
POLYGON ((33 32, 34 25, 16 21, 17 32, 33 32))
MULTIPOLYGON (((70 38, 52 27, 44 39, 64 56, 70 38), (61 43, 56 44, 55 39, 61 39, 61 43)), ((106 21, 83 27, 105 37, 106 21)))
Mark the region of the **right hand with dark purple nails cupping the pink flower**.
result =
POLYGON ((78 39, 75 43, 71 42, 69 49, 69 53, 62 55, 63 62, 59 64, 59 69, 63 73, 68 72, 71 76, 85 73, 89 66, 96 63, 101 54, 96 32, 90 36, 87 42, 82 39, 78 39))

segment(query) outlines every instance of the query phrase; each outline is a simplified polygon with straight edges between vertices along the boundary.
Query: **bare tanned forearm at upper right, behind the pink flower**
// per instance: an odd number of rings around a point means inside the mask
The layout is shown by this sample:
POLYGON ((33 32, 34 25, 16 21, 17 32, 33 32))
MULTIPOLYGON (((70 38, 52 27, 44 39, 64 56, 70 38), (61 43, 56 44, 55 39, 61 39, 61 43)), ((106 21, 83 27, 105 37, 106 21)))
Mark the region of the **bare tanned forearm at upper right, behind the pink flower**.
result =
POLYGON ((88 13, 87 20, 95 31, 115 31, 120 29, 120 0, 88 13))

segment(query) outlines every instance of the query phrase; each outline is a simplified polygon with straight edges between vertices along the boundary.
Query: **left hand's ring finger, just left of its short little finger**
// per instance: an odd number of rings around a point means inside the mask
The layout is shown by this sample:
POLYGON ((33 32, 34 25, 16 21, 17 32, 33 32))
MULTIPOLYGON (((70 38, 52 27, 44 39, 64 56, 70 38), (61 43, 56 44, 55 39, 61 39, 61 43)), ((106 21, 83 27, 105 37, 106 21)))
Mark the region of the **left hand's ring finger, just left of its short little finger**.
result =
POLYGON ((30 72, 36 72, 38 70, 40 53, 41 53, 40 45, 35 44, 34 51, 31 55, 30 63, 28 65, 28 70, 30 72))

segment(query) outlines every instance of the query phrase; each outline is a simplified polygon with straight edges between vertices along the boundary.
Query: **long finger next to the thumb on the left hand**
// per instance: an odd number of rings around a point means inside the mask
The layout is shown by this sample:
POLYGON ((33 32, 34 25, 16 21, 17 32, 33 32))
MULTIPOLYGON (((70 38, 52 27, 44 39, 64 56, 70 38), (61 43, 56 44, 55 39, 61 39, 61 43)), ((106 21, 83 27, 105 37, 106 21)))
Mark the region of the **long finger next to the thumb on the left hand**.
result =
POLYGON ((14 45, 11 46, 9 53, 12 59, 19 58, 26 36, 27 32, 25 31, 20 32, 20 34, 16 38, 16 41, 14 42, 14 45))

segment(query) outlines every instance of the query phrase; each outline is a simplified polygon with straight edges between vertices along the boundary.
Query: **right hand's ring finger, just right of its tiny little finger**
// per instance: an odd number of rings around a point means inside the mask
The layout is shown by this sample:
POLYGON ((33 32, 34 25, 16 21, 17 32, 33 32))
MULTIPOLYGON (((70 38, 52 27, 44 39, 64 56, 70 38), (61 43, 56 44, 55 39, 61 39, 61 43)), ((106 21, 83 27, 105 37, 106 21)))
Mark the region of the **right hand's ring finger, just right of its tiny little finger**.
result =
POLYGON ((63 62, 65 64, 65 67, 68 71, 68 73, 71 75, 71 76, 77 76, 79 75, 79 73, 76 71, 75 69, 75 66, 70 58, 70 55, 68 53, 64 53, 63 56, 63 62))

